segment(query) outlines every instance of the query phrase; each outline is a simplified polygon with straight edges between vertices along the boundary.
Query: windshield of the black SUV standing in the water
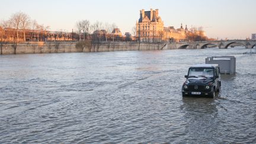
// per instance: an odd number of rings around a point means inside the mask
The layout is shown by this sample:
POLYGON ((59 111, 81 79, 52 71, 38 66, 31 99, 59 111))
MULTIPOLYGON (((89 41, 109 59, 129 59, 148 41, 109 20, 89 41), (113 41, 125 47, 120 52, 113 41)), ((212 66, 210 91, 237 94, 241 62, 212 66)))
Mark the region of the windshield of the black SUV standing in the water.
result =
POLYGON ((214 69, 212 68, 190 68, 188 78, 213 77, 214 69))

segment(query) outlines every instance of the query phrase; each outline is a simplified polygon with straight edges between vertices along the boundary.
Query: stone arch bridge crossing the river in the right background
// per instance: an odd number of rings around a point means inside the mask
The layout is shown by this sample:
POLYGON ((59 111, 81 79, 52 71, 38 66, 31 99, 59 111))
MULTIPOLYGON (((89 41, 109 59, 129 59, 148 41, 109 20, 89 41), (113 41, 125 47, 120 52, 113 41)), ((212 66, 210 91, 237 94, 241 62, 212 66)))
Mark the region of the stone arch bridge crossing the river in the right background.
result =
POLYGON ((219 49, 228 49, 229 46, 241 45, 247 49, 255 48, 256 40, 219 40, 219 41, 195 41, 167 43, 165 49, 204 49, 207 46, 219 47, 219 49))

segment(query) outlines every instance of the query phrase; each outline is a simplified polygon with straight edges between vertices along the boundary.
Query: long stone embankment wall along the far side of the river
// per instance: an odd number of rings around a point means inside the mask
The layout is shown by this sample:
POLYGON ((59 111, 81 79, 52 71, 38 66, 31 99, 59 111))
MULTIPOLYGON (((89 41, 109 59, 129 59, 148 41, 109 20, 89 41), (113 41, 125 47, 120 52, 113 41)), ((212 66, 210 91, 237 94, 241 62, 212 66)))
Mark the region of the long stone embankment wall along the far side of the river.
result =
POLYGON ((73 52, 113 52, 135 50, 162 50, 167 49, 165 43, 139 43, 139 42, 104 42, 91 43, 90 41, 72 42, 27 42, 2 43, 1 55, 21 53, 73 53, 73 52))

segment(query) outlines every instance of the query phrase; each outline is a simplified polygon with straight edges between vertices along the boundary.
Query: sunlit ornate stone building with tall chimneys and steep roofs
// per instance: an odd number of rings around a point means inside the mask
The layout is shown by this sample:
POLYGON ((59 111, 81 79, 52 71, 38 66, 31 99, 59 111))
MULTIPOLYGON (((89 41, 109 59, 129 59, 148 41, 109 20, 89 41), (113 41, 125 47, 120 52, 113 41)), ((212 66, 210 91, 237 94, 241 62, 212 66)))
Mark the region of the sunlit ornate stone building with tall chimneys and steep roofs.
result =
POLYGON ((140 41, 182 41, 188 32, 187 25, 177 30, 174 27, 164 27, 164 22, 159 16, 158 9, 151 11, 140 10, 139 21, 136 22, 136 37, 140 41))

